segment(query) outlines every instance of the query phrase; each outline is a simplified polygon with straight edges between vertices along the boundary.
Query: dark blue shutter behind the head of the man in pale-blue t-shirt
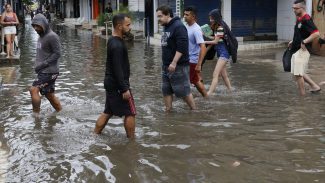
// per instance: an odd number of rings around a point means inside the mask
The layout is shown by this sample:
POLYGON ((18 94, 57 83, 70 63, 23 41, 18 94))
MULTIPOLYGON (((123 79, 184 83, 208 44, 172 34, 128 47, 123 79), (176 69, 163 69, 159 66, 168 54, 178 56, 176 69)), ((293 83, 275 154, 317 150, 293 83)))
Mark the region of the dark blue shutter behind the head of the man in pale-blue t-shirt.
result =
POLYGON ((209 24, 209 12, 221 6, 220 0, 184 0, 184 8, 195 6, 198 11, 198 24, 209 24))

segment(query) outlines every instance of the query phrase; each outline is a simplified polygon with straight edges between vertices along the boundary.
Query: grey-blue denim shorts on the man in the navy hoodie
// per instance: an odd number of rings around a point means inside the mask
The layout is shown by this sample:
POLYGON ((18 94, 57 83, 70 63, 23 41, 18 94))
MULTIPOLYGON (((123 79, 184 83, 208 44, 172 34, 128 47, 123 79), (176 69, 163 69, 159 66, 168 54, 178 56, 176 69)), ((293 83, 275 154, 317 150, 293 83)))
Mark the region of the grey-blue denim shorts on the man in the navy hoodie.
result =
POLYGON ((167 66, 162 66, 162 92, 164 96, 175 94, 176 97, 186 97, 191 93, 189 66, 176 66, 170 73, 167 66))

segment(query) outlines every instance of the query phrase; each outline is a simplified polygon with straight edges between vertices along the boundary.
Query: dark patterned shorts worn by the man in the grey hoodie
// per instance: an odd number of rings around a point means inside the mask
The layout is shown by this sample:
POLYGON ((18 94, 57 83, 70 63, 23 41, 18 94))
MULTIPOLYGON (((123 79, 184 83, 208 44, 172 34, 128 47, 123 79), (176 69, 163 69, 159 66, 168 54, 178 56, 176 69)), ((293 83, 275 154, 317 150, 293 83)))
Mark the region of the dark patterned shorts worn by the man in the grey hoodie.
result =
POLYGON ((33 86, 39 88, 42 95, 53 93, 55 91, 55 80, 58 76, 58 73, 40 73, 33 82, 33 86))

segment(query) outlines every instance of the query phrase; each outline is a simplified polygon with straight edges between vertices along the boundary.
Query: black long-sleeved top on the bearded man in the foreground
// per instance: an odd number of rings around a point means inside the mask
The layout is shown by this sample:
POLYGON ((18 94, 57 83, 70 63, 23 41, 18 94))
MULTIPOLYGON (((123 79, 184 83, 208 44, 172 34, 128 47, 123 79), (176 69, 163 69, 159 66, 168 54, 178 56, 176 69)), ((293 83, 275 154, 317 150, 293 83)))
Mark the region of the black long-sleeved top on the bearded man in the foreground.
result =
POLYGON ((123 93, 130 88, 128 51, 120 37, 112 36, 107 42, 107 61, 104 87, 107 92, 123 93))

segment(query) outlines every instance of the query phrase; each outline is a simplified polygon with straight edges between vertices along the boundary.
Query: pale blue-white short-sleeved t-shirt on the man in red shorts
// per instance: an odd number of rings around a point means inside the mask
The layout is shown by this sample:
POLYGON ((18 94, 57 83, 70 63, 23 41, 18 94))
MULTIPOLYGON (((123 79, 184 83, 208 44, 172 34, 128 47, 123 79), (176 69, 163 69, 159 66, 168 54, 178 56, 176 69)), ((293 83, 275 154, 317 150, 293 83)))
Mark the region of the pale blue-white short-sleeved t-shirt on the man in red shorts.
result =
POLYGON ((190 63, 197 64, 199 61, 200 44, 204 43, 203 32, 201 27, 194 23, 186 26, 188 33, 188 51, 190 55, 190 63))

